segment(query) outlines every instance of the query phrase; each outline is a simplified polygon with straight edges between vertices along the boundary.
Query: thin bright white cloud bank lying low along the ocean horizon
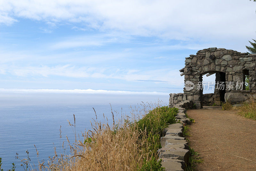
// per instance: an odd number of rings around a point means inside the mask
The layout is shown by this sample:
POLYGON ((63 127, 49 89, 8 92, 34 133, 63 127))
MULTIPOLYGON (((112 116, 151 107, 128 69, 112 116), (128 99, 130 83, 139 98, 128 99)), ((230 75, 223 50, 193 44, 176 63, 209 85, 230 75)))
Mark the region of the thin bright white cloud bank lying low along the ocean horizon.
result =
POLYGON ((0 92, 13 92, 13 93, 100 93, 100 94, 156 94, 168 95, 169 93, 162 92, 135 92, 135 91, 110 91, 110 90, 93 90, 93 89, 74 89, 74 90, 61 90, 61 89, 4 89, 0 88, 0 92))

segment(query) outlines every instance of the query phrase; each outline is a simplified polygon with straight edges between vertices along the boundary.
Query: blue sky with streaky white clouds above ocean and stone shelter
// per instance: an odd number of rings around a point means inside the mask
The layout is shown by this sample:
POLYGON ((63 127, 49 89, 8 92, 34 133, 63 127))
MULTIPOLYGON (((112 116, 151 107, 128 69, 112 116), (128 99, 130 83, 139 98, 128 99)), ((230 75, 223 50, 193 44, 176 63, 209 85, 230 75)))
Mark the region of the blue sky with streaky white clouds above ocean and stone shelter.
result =
POLYGON ((246 52, 255 10, 249 0, 0 0, 0 93, 182 93, 185 57, 246 52))

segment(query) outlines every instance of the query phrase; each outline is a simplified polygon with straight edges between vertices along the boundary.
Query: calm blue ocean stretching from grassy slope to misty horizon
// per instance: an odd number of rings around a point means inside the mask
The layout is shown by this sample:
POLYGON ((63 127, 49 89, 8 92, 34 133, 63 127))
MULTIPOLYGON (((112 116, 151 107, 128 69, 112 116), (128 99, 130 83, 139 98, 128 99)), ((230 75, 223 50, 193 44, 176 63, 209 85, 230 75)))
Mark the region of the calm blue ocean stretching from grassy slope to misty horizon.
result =
MULTIPOLYGON (((24 94, 23 94, 24 95, 24 94)), ((44 95, 39 95, 43 96, 44 95)), ((55 95, 54 95, 55 96, 55 95)), ((60 96, 60 95, 59 95, 60 96)), ((16 159, 16 153, 23 159, 27 157, 26 151, 29 152, 30 162, 35 165, 38 161, 48 160, 49 156, 54 156, 54 147, 56 152, 59 154, 63 152, 62 143, 66 141, 68 136, 69 141, 72 143, 75 141, 74 127, 72 129, 69 123, 74 125, 74 117, 76 118, 76 136, 82 135, 81 132, 91 129, 91 122, 96 119, 95 112, 97 114, 97 120, 103 121, 103 113, 105 117, 108 117, 109 121, 112 122, 112 114, 108 99, 110 99, 112 110, 115 115, 115 119, 120 117, 122 111, 123 114, 129 115, 131 107, 134 105, 138 106, 142 100, 146 101, 157 101, 158 98, 164 99, 167 104, 168 96, 149 95, 141 96, 134 95, 133 98, 130 95, 122 95, 114 97, 107 97, 111 95, 105 95, 104 100, 90 101, 91 96, 87 96, 86 101, 81 101, 81 96, 86 95, 70 95, 72 98, 68 100, 58 101, 51 96, 51 100, 45 101, 38 100, 38 95, 29 96, 21 102, 22 95, 19 94, 12 98, 4 100, 4 104, 0 105, 0 157, 2 158, 2 168, 5 170, 12 167, 14 162, 17 171, 24 170, 20 166, 20 160, 16 159), (113 100, 115 99, 115 100, 113 100), (33 105, 29 105, 29 104, 33 105), (9 104, 9 105, 8 105, 9 104), (119 113, 119 114, 118 114, 119 113), (60 126, 61 136, 60 138, 60 126), (39 152, 37 157, 36 148, 39 152), (60 148, 61 147, 61 148, 60 148)), ((102 99, 102 95, 99 99, 102 99)), ((27 97, 27 96, 26 96, 27 97)), ((48 97, 48 96, 47 96, 48 97)), ((69 95, 65 95, 69 97, 69 95)), ((40 98, 39 98, 40 99, 40 98)), ((45 99, 47 99, 45 97, 45 99)), ((96 98, 97 99, 97 98, 96 98)), ((66 143, 64 143, 65 148, 66 143)))

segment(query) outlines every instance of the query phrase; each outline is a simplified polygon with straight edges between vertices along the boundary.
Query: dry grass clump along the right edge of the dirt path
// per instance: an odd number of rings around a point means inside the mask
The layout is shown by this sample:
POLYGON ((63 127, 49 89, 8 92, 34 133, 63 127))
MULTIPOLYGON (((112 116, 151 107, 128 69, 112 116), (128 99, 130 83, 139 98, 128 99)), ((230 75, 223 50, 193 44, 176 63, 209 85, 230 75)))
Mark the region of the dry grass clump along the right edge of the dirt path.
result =
POLYGON ((238 107, 239 114, 246 118, 256 120, 256 97, 252 95, 251 98, 238 107))

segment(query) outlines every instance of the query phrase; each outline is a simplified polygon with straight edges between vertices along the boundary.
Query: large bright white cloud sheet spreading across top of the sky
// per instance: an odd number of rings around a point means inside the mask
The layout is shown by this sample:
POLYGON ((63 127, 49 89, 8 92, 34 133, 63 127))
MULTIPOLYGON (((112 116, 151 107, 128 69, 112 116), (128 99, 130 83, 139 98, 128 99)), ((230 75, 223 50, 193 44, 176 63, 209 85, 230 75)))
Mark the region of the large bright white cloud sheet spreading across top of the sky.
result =
POLYGON ((255 32, 255 5, 240 0, 2 0, 0 21, 10 25, 21 17, 82 23, 92 29, 164 39, 248 39, 255 32))

